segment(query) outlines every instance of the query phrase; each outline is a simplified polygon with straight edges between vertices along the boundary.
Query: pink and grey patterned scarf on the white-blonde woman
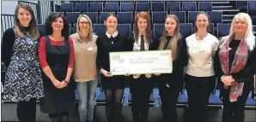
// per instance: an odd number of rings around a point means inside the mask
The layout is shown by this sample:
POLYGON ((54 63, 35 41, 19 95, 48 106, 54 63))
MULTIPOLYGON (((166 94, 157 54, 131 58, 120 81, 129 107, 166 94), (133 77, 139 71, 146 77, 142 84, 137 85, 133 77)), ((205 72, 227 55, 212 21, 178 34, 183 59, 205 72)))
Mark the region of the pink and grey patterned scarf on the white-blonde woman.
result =
MULTIPOLYGON (((241 40, 238 48, 235 52, 234 61, 232 62, 231 68, 229 67, 229 43, 232 39, 229 39, 225 44, 222 45, 222 49, 220 49, 220 63, 222 67, 222 72, 224 75, 230 75, 231 73, 237 73, 242 68, 244 68, 247 64, 248 58, 248 49, 247 42, 245 40, 241 40), (229 70, 230 68, 230 70, 229 70)), ((238 83, 236 81, 232 82, 230 86, 224 86, 225 89, 229 89, 229 101, 236 102, 237 97, 241 96, 243 90, 244 83, 238 83)))

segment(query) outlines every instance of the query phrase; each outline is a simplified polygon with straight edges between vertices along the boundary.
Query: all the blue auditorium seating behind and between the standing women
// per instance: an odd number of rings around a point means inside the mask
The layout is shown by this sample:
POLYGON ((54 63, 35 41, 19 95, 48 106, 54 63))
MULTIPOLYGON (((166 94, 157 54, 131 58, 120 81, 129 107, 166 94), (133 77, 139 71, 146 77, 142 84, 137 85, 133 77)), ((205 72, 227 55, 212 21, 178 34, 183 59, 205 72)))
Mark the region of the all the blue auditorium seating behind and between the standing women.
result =
MULTIPOLYGON (((247 9, 247 13, 252 16, 252 19, 256 22, 256 2, 237 2, 238 8, 247 9)), ((88 15, 93 22, 94 32, 97 35, 104 34, 106 26, 104 20, 107 13, 114 12, 118 16, 118 30, 121 34, 131 34, 134 16, 137 12, 147 11, 151 16, 152 32, 157 37, 162 36, 164 28, 164 21, 166 15, 174 14, 180 20, 180 33, 186 38, 190 36, 193 30, 193 23, 196 15, 200 11, 206 12, 210 16, 210 33, 214 34, 217 38, 221 38, 229 34, 230 23, 223 23, 223 20, 232 20, 233 16, 223 16, 224 13, 220 10, 216 10, 211 2, 134 2, 134 1, 113 1, 113 2, 94 2, 94 1, 82 1, 80 3, 61 3, 61 11, 70 22, 70 30, 76 32, 76 20, 80 14, 88 15)), ((42 36, 46 35, 46 25, 39 24, 40 33, 42 36)), ((247 106, 255 106, 255 100, 251 98, 253 96, 250 93, 247 106)), ((95 94, 95 102, 104 103, 106 100, 104 92, 100 87, 97 88, 95 94)), ((76 92, 76 100, 79 100, 79 96, 76 92)), ((130 89, 125 88, 124 98, 122 101, 124 106, 131 104, 130 89)), ((178 104, 187 104, 186 90, 180 93, 178 98, 178 104)), ((154 107, 161 107, 161 98, 159 97, 159 90, 155 88, 152 90, 150 96, 150 105, 154 107)), ((210 95, 209 105, 222 105, 220 99, 219 90, 216 90, 210 95)))

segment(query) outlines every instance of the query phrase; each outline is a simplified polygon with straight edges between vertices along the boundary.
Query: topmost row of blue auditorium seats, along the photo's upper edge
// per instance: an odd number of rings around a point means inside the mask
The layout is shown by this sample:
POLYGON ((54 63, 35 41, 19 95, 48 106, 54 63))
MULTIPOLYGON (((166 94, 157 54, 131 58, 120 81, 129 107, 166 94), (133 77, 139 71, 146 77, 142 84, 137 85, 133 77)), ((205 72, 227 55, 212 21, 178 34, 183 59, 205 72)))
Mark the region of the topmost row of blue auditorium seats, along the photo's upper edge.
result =
POLYGON ((62 3, 62 12, 211 11, 211 2, 62 3), (181 8, 182 4, 182 8, 181 8), (105 5, 105 6, 104 6, 105 5), (197 7, 198 6, 198 7, 197 7))

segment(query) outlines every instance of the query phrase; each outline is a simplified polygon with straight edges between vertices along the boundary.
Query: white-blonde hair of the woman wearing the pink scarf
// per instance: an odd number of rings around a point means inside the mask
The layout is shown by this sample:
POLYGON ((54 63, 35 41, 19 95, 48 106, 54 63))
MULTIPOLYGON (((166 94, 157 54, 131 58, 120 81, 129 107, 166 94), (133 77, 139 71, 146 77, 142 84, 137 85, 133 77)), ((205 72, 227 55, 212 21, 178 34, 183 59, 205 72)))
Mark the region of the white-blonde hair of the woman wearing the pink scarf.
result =
MULTIPOLYGON (((225 44, 228 40, 233 39, 235 36, 234 32, 234 24, 235 20, 244 20, 247 23, 247 32, 245 33, 245 37, 243 38, 245 41, 247 41, 247 46, 250 50, 253 50, 255 47, 255 36, 253 35, 253 23, 251 20, 250 15, 246 13, 238 13, 235 15, 234 19, 232 20, 231 26, 230 26, 230 32, 228 36, 222 37, 221 38, 221 44, 225 44)), ((222 47, 222 45, 220 47, 222 47)))

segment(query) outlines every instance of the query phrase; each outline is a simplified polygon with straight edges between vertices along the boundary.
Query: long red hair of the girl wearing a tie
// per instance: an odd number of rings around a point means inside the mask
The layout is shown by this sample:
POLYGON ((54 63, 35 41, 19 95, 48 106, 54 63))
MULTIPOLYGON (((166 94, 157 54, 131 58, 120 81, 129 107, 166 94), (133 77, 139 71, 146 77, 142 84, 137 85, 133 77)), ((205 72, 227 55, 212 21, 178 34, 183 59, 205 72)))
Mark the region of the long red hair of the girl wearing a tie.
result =
POLYGON ((133 25, 133 34, 134 34, 134 40, 137 43, 137 38, 138 38, 138 28, 137 28, 137 20, 139 18, 143 18, 145 20, 147 20, 147 28, 146 28, 146 35, 145 38, 148 41, 147 43, 150 44, 151 42, 151 20, 150 20, 150 16, 147 12, 139 12, 134 19, 134 25, 133 25))

